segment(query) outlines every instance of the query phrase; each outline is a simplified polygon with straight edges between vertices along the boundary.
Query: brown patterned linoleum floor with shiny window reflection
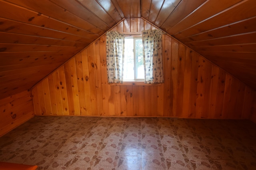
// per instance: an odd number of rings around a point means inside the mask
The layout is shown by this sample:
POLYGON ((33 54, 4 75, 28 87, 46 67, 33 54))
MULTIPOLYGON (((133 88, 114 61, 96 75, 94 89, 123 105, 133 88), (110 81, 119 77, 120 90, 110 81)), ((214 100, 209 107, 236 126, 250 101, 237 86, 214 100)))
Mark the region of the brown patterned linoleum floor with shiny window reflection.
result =
POLYGON ((0 138, 0 161, 38 170, 255 170, 249 120, 35 116, 0 138))

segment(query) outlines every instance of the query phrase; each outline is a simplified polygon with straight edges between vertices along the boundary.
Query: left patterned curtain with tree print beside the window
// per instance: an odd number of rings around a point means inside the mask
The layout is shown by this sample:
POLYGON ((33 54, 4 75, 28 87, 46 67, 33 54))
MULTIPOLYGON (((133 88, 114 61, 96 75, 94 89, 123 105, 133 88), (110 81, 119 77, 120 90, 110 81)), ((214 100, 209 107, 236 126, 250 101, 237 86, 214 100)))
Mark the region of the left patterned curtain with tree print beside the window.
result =
POLYGON ((109 83, 123 82, 124 35, 117 31, 106 33, 107 74, 109 83))

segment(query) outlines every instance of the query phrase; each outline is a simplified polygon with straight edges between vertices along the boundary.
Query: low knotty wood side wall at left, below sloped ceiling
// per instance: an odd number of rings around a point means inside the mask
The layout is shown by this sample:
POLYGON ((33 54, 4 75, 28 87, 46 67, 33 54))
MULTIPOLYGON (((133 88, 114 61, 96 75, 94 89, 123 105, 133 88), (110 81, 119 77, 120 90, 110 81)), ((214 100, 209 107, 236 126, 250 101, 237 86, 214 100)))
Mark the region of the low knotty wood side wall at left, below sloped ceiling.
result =
POLYGON ((34 116, 31 91, 0 100, 0 136, 34 116))

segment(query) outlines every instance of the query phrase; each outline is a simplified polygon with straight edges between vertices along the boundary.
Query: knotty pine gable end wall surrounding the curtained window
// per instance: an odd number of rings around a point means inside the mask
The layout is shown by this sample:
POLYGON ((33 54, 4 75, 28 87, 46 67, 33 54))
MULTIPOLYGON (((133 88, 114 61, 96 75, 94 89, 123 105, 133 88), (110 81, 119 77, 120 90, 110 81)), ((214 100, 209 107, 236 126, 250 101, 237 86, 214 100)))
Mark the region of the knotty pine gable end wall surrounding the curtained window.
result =
MULTIPOLYGON (((130 18, 113 30, 154 28, 130 18)), ((166 34, 164 83, 108 84, 105 41, 104 35, 32 89, 36 115, 249 118, 252 90, 166 34)))

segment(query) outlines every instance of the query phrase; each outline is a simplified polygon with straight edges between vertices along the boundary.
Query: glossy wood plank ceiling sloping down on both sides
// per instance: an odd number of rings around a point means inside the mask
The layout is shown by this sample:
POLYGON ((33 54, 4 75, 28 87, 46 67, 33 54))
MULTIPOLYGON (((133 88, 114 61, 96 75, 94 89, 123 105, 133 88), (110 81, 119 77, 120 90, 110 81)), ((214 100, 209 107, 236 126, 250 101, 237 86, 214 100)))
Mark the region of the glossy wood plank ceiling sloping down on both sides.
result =
POLYGON ((0 99, 140 17, 256 89, 255 8, 255 0, 0 0, 0 99))

